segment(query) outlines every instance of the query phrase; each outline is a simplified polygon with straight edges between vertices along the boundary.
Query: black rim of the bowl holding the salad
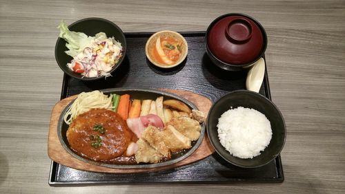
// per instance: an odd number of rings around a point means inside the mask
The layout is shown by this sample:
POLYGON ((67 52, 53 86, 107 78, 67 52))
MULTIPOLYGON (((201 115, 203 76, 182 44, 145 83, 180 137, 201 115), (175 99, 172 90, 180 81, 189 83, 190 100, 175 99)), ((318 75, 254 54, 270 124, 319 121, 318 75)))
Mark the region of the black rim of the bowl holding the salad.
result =
MULTIPOLYGON (((99 18, 99 17, 88 17, 88 18, 80 19, 80 20, 75 21, 75 22, 71 23, 70 25, 68 25, 68 29, 70 29, 71 27, 73 27, 73 25, 76 25, 77 23, 80 23, 80 22, 83 22, 83 21, 90 21, 90 20, 105 21, 106 23, 110 23, 110 25, 114 26, 117 30, 119 30, 119 32, 120 32, 122 38, 124 39, 124 43, 121 43, 121 45, 122 45, 122 56, 121 56, 121 58, 119 59, 119 61, 117 62, 117 65, 115 65, 115 67, 113 67, 113 68, 110 70, 109 73, 111 74, 112 72, 115 71, 115 69, 117 69, 117 68, 121 65, 122 61, 124 61, 124 58, 125 58, 125 56, 126 56, 126 51, 127 51, 126 36, 124 35, 124 32, 121 30, 121 28, 119 28, 118 25, 116 25, 116 24, 113 23, 112 21, 109 21, 108 19, 103 19, 103 18, 99 18)), ((85 80, 85 81, 99 80, 99 79, 105 77, 105 76, 99 76, 99 77, 97 77, 97 78, 82 78, 82 77, 75 76, 75 75, 72 74, 71 72, 65 71, 65 70, 63 69, 63 65, 60 64, 60 62, 57 60, 57 53, 59 52, 59 51, 57 50, 57 45, 58 45, 58 43, 59 43, 60 41, 64 41, 64 40, 63 40, 62 38, 58 37, 58 38, 57 38, 57 42, 55 43, 55 61, 57 61, 57 65, 59 65, 60 69, 61 69, 63 72, 65 72, 66 74, 68 74, 68 76, 71 76, 71 77, 73 77, 73 78, 77 78, 77 79, 79 79, 79 80, 85 80)), ((66 47, 66 46, 65 46, 65 47, 66 47)), ((66 49, 67 49, 67 47, 66 47, 66 49)))

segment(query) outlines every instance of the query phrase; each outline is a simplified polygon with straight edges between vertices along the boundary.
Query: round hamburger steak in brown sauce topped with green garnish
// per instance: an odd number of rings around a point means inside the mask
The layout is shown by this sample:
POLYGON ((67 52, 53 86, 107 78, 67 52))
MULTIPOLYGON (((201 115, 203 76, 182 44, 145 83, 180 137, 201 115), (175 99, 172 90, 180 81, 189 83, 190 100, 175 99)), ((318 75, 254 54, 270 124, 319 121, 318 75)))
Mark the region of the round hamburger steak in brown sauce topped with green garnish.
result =
POLYGON ((66 132, 70 148, 83 158, 107 162, 124 155, 137 137, 114 111, 91 109, 72 121, 66 132))

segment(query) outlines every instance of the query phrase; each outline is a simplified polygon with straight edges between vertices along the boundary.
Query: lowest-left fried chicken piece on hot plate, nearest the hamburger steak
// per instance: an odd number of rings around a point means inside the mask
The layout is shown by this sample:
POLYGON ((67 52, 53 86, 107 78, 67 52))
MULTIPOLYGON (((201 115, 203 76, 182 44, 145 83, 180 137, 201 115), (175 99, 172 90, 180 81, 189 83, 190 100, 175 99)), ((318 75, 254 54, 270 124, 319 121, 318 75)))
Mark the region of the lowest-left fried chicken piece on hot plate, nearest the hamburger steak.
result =
POLYGON ((138 151, 137 153, 135 153, 135 160, 137 160, 137 163, 158 163, 163 158, 163 155, 161 155, 161 153, 151 147, 150 144, 148 144, 148 142, 146 142, 145 140, 140 138, 137 141, 137 145, 138 151))

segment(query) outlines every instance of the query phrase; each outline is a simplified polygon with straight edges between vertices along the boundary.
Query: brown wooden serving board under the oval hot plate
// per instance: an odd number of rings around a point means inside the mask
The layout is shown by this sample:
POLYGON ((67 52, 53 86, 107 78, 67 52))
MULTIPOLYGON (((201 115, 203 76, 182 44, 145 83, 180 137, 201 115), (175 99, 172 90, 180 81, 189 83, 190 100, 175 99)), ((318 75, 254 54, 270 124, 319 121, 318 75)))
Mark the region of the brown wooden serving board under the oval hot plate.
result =
MULTIPOLYGON (((201 96, 199 94, 195 94, 190 91, 185 90, 176 90, 176 89, 161 89, 163 91, 168 91, 172 94, 177 94, 190 100, 193 104, 195 104, 200 111, 204 111, 205 115, 208 114, 210 107, 212 106, 212 102, 206 98, 205 96, 201 96)), ((100 173, 144 173, 144 172, 154 172, 154 171, 164 171, 167 169, 173 169, 179 166, 184 166, 186 164, 191 164, 193 162, 197 162, 201 159, 206 158, 208 155, 211 155, 215 150, 213 149, 210 141, 208 140, 206 131, 204 135, 204 139, 202 140, 199 148, 192 153, 188 158, 181 160, 175 164, 170 164, 167 166, 159 166, 155 168, 145 168, 145 169, 113 169, 104 166, 97 166, 95 164, 90 164, 88 162, 83 162, 78 160, 77 158, 70 155, 65 149, 63 149, 59 137, 57 136, 57 123, 61 112, 66 106, 75 98, 77 95, 70 96, 59 101, 52 109, 52 116, 50 119, 50 127, 49 127, 49 134, 48 134, 48 155, 51 160, 62 164, 64 166, 68 166, 72 169, 78 169, 82 171, 94 171, 100 173)))

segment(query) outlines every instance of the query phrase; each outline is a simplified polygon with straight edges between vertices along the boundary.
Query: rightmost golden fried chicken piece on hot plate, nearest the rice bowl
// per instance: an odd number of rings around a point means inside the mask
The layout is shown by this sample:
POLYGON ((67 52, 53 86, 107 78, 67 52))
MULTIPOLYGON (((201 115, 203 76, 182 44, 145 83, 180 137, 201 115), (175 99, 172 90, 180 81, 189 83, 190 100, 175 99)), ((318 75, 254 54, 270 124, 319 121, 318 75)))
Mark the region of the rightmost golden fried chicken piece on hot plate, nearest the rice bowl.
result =
POLYGON ((186 116, 172 118, 170 122, 168 122, 168 125, 175 127, 177 131, 182 133, 187 138, 190 138, 190 140, 195 141, 200 137, 201 127, 199 122, 193 118, 188 118, 186 116))

